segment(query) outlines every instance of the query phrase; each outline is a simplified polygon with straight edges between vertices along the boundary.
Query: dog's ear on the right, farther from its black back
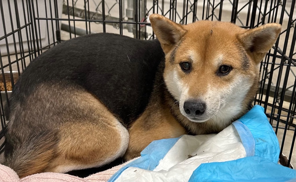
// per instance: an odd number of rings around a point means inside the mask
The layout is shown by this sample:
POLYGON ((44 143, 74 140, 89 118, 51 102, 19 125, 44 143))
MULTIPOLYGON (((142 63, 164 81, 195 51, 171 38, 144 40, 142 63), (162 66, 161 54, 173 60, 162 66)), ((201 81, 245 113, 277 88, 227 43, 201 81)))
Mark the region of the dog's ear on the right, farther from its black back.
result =
POLYGON ((244 33, 238 35, 238 39, 258 64, 276 42, 280 33, 280 24, 267 23, 258 28, 246 30, 244 33))

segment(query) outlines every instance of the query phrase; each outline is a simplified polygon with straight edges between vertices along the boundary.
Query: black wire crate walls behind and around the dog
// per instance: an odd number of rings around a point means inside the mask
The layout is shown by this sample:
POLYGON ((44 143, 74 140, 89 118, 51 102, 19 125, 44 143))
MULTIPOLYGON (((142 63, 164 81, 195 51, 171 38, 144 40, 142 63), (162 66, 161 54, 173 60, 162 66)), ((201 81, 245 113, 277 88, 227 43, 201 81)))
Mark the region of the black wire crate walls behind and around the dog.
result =
MULTIPOLYGON (((287 155, 281 163, 296 165, 295 0, 0 0, 0 9, 1 128, 7 123, 4 104, 9 104, 18 76, 30 61, 61 41, 100 32, 153 39, 148 18, 152 13, 181 24, 198 20, 233 22, 243 28, 282 24, 278 41, 260 65, 254 104, 265 108, 281 153, 287 155)), ((3 149, 3 129, 0 138, 3 149)))

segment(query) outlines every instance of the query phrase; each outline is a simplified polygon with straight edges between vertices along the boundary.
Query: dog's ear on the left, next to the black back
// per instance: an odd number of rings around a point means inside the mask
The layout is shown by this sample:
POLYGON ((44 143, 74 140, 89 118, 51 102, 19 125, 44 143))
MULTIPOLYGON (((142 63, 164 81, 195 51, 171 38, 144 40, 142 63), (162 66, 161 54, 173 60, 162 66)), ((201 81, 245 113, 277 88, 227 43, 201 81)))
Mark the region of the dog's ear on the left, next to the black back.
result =
POLYGON ((186 33, 181 24, 175 23, 164 16, 152 14, 149 16, 149 20, 165 54, 168 54, 186 33))

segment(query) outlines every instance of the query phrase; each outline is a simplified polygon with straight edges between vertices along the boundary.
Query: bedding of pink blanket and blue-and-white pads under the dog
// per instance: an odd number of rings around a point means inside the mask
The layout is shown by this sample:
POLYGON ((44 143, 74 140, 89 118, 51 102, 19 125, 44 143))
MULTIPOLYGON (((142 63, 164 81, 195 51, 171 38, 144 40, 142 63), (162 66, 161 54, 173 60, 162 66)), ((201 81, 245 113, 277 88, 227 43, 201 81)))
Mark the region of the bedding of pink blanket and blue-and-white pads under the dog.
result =
POLYGON ((218 134, 153 141, 141 157, 86 178, 39 173, 20 179, 11 168, 0 165, 0 181, 296 181, 296 170, 278 164, 279 153, 264 109, 255 105, 218 134))

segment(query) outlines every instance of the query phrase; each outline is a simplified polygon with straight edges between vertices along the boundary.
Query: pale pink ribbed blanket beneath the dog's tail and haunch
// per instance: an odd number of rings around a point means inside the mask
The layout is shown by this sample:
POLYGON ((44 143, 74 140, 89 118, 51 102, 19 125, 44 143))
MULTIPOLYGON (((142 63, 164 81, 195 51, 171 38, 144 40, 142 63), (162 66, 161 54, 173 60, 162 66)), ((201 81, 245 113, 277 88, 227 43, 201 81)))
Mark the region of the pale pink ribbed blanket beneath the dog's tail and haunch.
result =
POLYGON ((108 181, 108 179, 110 179, 111 176, 115 174, 121 167, 133 160, 112 167, 111 169, 90 175, 86 178, 79 178, 61 173, 38 173, 20 179, 13 169, 0 164, 0 182, 105 182, 108 181))

